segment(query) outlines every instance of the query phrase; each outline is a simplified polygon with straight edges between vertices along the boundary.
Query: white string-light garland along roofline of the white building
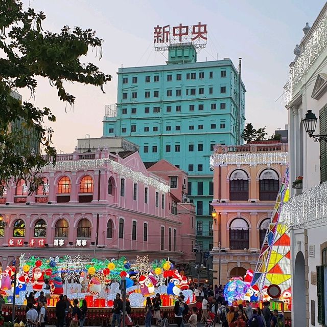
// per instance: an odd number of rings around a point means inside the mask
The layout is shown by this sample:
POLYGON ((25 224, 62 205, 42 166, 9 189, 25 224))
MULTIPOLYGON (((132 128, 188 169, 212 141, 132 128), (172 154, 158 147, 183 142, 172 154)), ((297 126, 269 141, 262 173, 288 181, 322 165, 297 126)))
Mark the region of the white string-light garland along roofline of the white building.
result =
POLYGON ((319 21, 318 26, 304 46, 301 55, 296 59, 289 72, 289 79, 284 86, 285 104, 293 99, 293 91, 297 84, 312 68, 322 51, 327 47, 327 13, 319 21))

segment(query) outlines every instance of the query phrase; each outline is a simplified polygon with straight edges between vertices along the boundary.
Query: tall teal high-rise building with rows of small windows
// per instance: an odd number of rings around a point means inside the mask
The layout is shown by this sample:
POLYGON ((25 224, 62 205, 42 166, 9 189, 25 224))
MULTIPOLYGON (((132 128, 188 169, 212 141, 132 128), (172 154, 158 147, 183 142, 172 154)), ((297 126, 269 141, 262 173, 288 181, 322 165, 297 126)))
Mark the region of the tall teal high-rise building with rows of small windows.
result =
POLYGON ((203 251, 213 246, 213 172, 217 143, 241 144, 245 86, 229 58, 197 62, 192 45, 171 46, 167 64, 118 70, 118 101, 108 105, 103 136, 140 146, 144 162, 166 159, 189 174, 203 251))

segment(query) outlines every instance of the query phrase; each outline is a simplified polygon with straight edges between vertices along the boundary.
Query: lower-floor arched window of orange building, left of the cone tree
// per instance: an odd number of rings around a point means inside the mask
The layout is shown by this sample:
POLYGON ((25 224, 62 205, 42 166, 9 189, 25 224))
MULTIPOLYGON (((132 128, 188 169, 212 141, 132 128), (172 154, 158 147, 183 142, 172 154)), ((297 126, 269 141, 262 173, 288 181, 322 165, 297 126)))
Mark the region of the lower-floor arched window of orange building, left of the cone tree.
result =
POLYGON ((229 226, 229 248, 231 250, 249 248, 249 226, 242 218, 234 219, 229 226))

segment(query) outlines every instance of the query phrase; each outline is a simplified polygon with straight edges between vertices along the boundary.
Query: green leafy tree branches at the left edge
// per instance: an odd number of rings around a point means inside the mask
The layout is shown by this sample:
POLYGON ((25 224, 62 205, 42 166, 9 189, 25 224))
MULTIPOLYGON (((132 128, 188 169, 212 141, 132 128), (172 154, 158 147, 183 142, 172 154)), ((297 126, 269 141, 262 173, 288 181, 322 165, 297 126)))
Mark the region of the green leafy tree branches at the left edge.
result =
MULTIPOLYGON (((49 80, 57 89, 60 100, 74 105, 64 82, 103 86, 111 76, 99 71, 93 63, 82 63, 89 49, 99 49, 103 40, 91 29, 64 26, 59 33, 42 30, 43 12, 24 10, 19 0, 0 2, 0 196, 11 178, 25 179, 29 192, 42 183, 42 167, 55 164, 56 150, 52 145, 53 130, 44 120, 54 122, 49 107, 38 108, 29 101, 13 96, 28 88, 35 95, 37 77, 49 80), (15 125, 22 128, 13 128, 15 125), (32 141, 41 144, 44 156, 31 150, 32 141)), ((39 144, 38 143, 38 144, 39 144)))

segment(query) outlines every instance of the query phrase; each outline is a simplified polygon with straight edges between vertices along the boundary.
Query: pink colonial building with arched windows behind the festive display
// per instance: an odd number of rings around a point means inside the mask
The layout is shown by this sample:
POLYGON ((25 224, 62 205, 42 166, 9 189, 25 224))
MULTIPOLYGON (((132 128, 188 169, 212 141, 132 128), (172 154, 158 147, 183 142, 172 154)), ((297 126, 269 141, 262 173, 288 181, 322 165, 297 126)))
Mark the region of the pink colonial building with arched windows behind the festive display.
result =
POLYGON ((179 203, 187 175, 174 167, 183 184, 171 188, 166 162, 152 168, 156 174, 137 151, 113 154, 104 147, 58 155, 35 194, 27 194, 24 180, 13 182, 0 199, 2 266, 21 253, 193 260, 194 206, 179 203))

